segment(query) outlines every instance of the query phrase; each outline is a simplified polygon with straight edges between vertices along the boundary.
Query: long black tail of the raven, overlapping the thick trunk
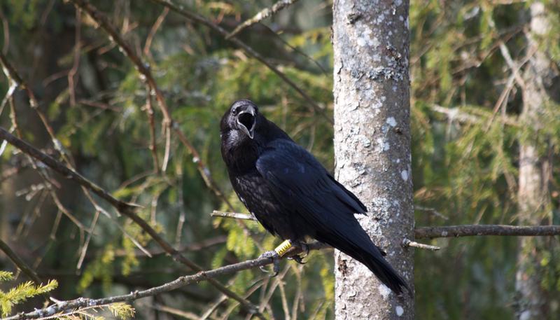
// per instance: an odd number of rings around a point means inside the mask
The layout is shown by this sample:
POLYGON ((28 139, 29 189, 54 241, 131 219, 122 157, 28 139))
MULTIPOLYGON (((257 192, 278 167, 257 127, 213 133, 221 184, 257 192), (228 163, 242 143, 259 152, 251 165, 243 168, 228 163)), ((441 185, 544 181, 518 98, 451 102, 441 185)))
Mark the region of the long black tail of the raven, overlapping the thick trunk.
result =
POLYGON ((402 293, 403 288, 412 294, 405 279, 402 279, 398 272, 383 258, 384 252, 373 244, 367 233, 364 230, 356 233, 358 234, 352 235, 352 237, 341 237, 332 233, 330 235, 316 235, 316 239, 330 244, 330 246, 363 263, 375 274, 379 281, 388 286, 397 295, 402 293), (363 234, 361 234, 362 232, 363 234), (364 235, 367 237, 367 240, 364 238, 364 235))

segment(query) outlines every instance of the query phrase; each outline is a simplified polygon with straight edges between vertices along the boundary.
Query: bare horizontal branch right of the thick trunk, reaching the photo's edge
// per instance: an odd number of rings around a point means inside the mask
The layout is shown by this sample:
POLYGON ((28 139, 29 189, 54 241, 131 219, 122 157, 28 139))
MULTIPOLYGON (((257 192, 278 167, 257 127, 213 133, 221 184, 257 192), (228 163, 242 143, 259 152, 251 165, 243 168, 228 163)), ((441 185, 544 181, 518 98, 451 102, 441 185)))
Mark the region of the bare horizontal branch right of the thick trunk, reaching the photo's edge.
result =
POLYGON ((417 227, 416 239, 445 237, 470 237, 478 235, 499 236, 553 236, 560 235, 560 225, 445 225, 441 227, 417 227))

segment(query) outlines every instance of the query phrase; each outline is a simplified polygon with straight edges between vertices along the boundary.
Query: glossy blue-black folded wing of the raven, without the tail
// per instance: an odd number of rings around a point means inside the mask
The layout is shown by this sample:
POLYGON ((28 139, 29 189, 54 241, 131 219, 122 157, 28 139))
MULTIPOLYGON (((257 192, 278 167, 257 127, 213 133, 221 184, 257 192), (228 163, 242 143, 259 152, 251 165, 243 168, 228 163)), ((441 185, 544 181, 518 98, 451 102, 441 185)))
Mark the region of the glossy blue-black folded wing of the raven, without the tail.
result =
POLYGON ((276 139, 267 144, 256 166, 274 195, 285 205, 300 208, 300 214, 310 223, 329 218, 329 215, 353 218, 353 214, 367 211, 311 153, 293 141, 276 139))

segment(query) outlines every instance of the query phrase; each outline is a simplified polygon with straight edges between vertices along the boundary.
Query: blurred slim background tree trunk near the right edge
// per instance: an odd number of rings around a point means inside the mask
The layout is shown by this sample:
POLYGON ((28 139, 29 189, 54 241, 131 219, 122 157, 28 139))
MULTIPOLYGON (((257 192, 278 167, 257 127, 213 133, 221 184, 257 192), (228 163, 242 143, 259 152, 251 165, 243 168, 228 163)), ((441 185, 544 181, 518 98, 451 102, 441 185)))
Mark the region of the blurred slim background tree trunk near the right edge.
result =
MULTIPOLYGON (((519 223, 551 223, 550 196, 548 190, 551 163, 542 151, 546 137, 538 134, 539 125, 546 116, 549 101, 548 89, 554 74, 551 61, 538 39, 548 32, 549 22, 544 4, 531 4, 531 31, 527 35, 528 52, 535 54, 528 61, 524 72, 523 112, 521 121, 531 134, 519 142, 519 223)), ((542 291, 540 255, 547 250, 548 239, 540 237, 520 238, 518 269, 516 273, 517 319, 547 319, 547 295, 542 291)))

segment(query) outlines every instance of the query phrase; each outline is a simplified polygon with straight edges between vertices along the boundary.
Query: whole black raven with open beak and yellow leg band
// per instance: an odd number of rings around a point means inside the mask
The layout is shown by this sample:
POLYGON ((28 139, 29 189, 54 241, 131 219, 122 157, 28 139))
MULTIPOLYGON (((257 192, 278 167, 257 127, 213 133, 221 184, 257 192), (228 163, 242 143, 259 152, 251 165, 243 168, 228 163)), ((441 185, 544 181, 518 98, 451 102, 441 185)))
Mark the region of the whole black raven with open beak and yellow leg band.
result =
MULTIPOLYGON (((329 244, 366 265, 393 292, 410 292, 354 217, 366 213, 365 205, 253 102, 234 102, 220 130, 233 189, 266 230, 302 248, 306 237, 329 244)), ((276 248, 263 255, 282 254, 276 248)))

